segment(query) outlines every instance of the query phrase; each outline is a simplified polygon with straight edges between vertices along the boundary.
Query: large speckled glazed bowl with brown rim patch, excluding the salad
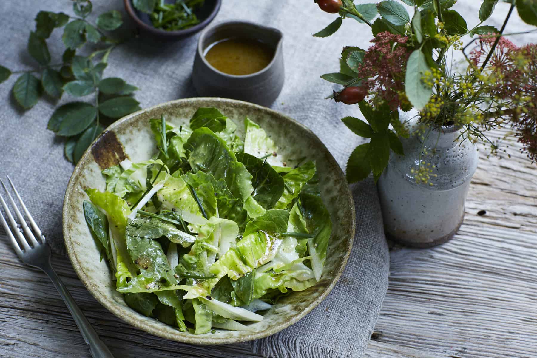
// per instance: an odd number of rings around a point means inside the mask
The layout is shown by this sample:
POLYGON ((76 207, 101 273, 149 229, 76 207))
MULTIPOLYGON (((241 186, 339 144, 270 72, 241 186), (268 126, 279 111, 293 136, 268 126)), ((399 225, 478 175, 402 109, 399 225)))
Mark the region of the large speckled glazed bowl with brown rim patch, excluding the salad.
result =
POLYGON ((143 331, 191 344, 224 344, 263 338, 294 324, 315 308, 336 284, 349 258, 354 238, 354 204, 345 176, 324 144, 309 129, 269 108, 231 99, 192 98, 171 101, 143 109, 113 123, 86 150, 75 167, 63 201, 63 237, 72 266, 90 293, 115 316, 143 331), (245 116, 257 122, 279 146, 279 155, 316 160, 323 201, 330 211, 332 236, 321 280, 304 291, 282 297, 250 331, 215 330, 193 335, 180 332, 156 319, 129 308, 115 290, 106 260, 99 261, 99 250, 84 220, 82 203, 88 200, 84 189, 105 190, 101 170, 129 158, 146 160, 156 151, 149 128, 151 118, 162 114, 175 125, 187 124, 198 107, 216 107, 237 123, 244 135, 245 116))

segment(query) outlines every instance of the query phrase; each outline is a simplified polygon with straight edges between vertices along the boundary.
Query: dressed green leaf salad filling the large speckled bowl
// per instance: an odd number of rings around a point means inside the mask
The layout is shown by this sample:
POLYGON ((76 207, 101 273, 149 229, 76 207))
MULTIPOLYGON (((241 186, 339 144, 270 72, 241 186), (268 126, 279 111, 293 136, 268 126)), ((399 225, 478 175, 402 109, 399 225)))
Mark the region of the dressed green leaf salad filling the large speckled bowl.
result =
POLYGON ((103 170, 105 192, 86 189, 86 222, 125 302, 183 332, 248 330, 323 272, 332 223, 315 163, 287 165, 244 123, 240 137, 216 108, 189 126, 153 119, 155 155, 103 170))

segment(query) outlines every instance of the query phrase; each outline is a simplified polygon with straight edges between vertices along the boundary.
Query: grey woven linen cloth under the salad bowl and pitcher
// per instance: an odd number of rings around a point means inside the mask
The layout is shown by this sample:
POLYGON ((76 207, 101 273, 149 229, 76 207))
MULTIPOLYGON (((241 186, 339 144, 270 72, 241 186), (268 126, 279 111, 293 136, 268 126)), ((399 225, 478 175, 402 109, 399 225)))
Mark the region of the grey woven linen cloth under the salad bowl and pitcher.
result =
MULTIPOLYGON (((119 0, 96 0, 93 5, 94 13, 117 9, 126 18, 119 0)), ((1 65, 11 70, 34 66, 26 45, 39 10, 72 13, 71 1, 0 2, 1 65)), ((338 54, 343 46, 367 47, 370 36, 365 27, 352 20, 344 21, 342 29, 331 38, 311 36, 333 18, 311 1, 224 0, 213 24, 246 19, 277 27, 284 33, 286 81, 272 108, 311 128, 345 167, 346 158, 360 139, 340 118, 359 115, 359 111, 324 100, 332 86, 319 76, 338 70, 338 54)), ((57 61, 63 48, 60 36, 61 32, 56 31, 48 40, 50 52, 57 61)), ((140 87, 135 97, 142 107, 195 97, 191 72, 196 43, 197 36, 171 43, 158 43, 141 36, 114 50, 105 76, 125 78, 140 87)), ((64 96, 59 103, 42 100, 30 111, 21 112, 10 93, 16 78, 13 75, 0 84, 0 176, 5 178, 10 174, 54 250, 62 252, 62 200, 73 166, 63 158, 63 140, 46 130, 46 125, 53 109, 73 98, 64 96)), ((331 295, 299 323, 272 337, 245 343, 252 353, 279 358, 361 357, 364 353, 386 293, 389 260, 373 182, 367 180, 354 185, 353 193, 357 235, 342 278, 331 295)), ((214 353, 217 351, 215 348, 214 353)))

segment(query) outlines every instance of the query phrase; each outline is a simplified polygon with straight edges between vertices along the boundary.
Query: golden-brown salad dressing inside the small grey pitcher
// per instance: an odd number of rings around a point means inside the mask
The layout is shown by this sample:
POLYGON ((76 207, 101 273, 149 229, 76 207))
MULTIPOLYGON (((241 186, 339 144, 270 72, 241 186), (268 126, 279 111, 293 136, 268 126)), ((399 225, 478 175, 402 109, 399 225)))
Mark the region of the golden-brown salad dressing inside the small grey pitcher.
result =
POLYGON ((224 39, 205 51, 205 59, 215 69, 228 75, 244 76, 259 72, 269 65, 274 49, 253 39, 224 39))

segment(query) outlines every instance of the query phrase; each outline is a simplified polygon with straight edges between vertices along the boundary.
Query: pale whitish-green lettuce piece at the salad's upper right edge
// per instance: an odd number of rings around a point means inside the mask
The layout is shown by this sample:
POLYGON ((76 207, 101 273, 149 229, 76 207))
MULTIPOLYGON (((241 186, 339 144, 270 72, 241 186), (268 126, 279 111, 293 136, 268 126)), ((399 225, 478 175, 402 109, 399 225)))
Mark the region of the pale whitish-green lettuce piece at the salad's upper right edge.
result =
POLYGON ((266 158, 270 165, 282 165, 278 147, 266 132, 248 118, 244 119, 244 127, 244 152, 258 158, 266 158), (277 155, 274 156, 274 153, 277 155))

